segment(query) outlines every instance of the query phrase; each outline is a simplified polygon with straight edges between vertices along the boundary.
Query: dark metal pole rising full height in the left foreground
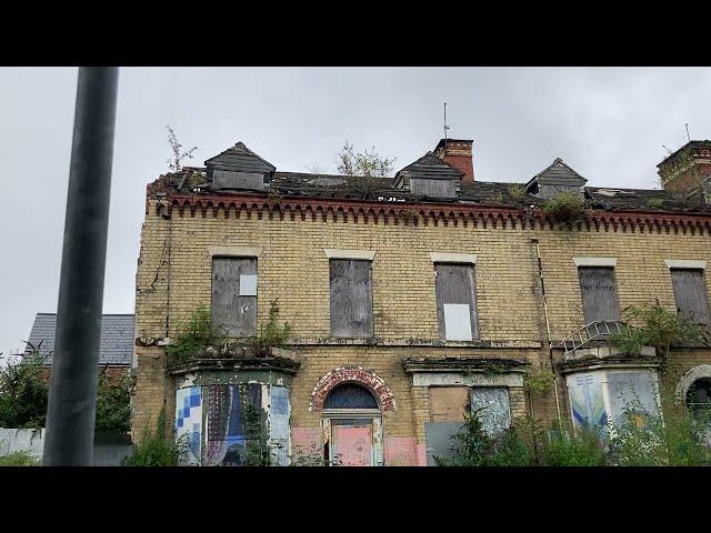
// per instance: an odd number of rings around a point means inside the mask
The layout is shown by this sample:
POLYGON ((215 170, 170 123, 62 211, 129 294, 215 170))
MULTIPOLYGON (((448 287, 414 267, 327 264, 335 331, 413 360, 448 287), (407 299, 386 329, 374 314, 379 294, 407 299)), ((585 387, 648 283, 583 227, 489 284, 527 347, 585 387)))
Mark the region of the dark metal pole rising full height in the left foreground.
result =
POLYGON ((119 69, 80 67, 43 464, 89 466, 119 69))

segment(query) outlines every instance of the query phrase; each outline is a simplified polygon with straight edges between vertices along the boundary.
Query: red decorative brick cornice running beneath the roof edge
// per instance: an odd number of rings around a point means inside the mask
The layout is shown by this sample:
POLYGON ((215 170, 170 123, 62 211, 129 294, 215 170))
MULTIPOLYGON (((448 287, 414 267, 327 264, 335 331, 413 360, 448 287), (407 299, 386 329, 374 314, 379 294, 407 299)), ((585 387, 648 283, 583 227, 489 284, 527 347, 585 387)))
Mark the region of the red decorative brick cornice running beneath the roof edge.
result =
POLYGON ((559 223, 539 209, 464 203, 367 202, 264 194, 171 194, 156 202, 156 214, 226 219, 321 220, 385 225, 463 225, 523 230, 578 230, 621 233, 711 233, 711 212, 595 211, 559 223))

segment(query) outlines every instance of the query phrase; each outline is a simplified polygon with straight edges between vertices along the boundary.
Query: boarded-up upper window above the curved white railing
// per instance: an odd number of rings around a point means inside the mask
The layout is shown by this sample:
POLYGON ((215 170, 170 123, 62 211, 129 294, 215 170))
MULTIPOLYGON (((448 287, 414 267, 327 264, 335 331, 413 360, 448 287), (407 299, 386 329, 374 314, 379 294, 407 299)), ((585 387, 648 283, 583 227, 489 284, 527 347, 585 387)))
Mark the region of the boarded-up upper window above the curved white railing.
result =
POLYGON ((614 269, 581 266, 578 269, 578 274, 585 324, 620 320, 614 269))

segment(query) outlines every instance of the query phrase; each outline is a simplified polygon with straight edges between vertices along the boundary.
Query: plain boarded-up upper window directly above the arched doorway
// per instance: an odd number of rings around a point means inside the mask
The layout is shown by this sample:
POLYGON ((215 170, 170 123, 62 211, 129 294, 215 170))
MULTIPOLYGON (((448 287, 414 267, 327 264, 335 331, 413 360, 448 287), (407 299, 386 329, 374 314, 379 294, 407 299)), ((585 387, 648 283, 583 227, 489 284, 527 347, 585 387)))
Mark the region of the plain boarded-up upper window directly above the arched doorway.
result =
POLYGON ((373 296, 370 261, 332 259, 331 335, 373 336, 373 296))

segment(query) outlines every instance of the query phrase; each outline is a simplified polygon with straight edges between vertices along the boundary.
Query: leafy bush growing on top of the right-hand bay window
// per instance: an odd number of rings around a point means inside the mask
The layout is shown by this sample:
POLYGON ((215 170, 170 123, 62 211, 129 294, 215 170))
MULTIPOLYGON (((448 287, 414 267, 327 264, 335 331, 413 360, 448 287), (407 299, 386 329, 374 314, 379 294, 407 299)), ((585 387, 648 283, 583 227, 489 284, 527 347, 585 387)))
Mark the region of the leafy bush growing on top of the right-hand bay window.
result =
POLYGON ((639 353, 642 346, 654 346, 665 370, 669 351, 674 345, 709 342, 707 329, 684 313, 670 311, 655 300, 649 305, 631 305, 622 311, 622 320, 634 325, 611 335, 623 353, 639 353))

